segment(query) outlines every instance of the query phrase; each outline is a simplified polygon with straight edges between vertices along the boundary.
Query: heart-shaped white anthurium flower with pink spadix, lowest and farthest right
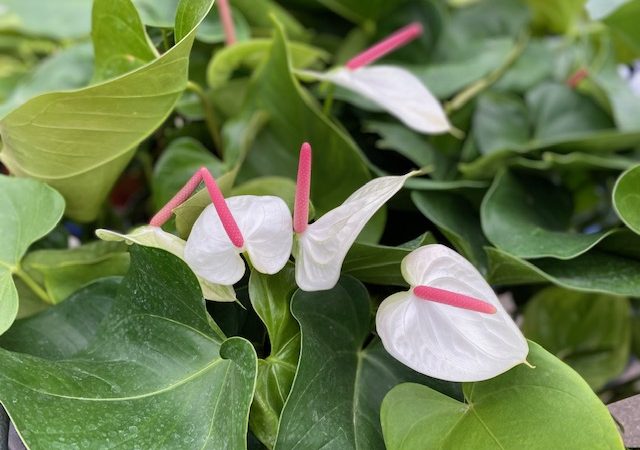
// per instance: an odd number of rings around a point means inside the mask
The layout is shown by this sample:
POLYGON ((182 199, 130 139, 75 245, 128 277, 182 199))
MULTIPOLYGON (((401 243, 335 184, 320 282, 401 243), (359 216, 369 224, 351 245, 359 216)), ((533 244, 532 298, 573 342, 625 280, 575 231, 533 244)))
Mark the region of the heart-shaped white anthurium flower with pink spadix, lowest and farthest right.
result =
POLYGON ((528 364, 527 341, 482 275, 443 245, 405 257, 410 289, 391 295, 376 315, 385 349, 425 375, 466 382, 528 364))

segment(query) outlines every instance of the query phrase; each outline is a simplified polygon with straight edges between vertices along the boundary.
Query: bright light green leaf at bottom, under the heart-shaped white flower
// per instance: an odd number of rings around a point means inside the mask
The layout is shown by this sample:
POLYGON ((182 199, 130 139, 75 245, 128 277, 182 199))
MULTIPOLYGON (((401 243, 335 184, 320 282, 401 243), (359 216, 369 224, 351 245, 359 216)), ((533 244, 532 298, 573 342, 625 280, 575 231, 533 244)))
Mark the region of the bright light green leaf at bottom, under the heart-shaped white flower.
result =
POLYGON ((465 383, 465 402, 406 383, 382 403, 389 450, 624 449, 607 408, 570 367, 529 342, 527 359, 509 372, 465 383))

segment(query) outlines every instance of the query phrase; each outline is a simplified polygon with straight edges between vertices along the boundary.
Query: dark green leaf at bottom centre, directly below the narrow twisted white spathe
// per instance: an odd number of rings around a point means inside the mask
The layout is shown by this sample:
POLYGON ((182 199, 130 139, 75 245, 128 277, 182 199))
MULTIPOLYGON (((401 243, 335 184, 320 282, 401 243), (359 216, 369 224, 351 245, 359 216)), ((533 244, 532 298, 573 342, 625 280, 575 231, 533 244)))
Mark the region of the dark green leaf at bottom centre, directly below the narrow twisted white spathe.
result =
POLYGON ((297 291, 291 310, 300 323, 302 350, 277 449, 384 449, 379 412, 389 389, 415 381, 457 394, 456 385, 429 379, 393 359, 379 340, 364 346, 369 296, 353 278, 343 277, 328 291, 297 291))

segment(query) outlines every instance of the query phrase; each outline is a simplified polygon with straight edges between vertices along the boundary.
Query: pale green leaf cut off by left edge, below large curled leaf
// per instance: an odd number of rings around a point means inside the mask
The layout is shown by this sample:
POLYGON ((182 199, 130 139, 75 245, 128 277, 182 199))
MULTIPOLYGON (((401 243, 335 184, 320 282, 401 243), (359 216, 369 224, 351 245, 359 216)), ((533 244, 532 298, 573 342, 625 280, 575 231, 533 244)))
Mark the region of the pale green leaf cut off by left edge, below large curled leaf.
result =
POLYGON ((29 246, 56 226, 64 200, 35 180, 0 175, 0 334, 18 313, 18 292, 13 274, 24 277, 20 260, 29 246))

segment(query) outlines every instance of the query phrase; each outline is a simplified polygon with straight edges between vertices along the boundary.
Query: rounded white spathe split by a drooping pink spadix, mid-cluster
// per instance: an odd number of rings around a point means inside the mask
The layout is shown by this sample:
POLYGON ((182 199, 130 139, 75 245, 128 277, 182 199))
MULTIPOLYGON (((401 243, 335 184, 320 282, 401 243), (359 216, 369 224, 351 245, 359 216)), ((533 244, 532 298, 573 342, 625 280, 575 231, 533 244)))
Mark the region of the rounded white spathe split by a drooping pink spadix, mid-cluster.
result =
POLYGON ((207 281, 234 284, 242 278, 246 252, 261 273, 279 272, 289 259, 293 243, 291 213, 279 197, 239 195, 226 199, 227 206, 244 238, 237 248, 227 236, 213 205, 207 206, 193 224, 185 261, 207 281))

